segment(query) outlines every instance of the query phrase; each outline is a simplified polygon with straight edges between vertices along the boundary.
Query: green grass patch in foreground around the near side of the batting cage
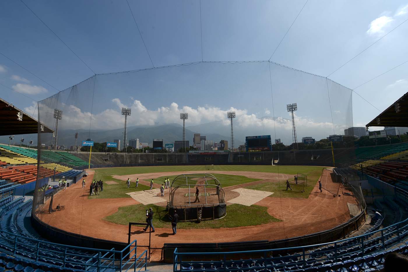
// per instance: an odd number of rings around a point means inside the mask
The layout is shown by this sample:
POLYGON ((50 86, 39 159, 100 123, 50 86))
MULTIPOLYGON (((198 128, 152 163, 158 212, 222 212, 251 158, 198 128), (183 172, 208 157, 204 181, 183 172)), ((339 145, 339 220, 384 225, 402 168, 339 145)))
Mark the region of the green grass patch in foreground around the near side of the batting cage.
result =
MULTIPOLYGON (((103 218, 106 221, 128 225, 129 222, 145 223, 146 210, 153 208, 153 226, 154 227, 168 227, 171 228, 171 220, 167 216, 165 207, 151 205, 131 205, 120 207, 118 212, 103 218)), ((243 227, 262 225, 271 222, 279 222, 281 220, 271 216, 267 212, 267 207, 252 205, 250 207, 233 204, 227 207, 227 214, 224 218, 217 220, 196 222, 179 222, 177 229, 204 229, 204 228, 225 228, 225 227, 243 227)))

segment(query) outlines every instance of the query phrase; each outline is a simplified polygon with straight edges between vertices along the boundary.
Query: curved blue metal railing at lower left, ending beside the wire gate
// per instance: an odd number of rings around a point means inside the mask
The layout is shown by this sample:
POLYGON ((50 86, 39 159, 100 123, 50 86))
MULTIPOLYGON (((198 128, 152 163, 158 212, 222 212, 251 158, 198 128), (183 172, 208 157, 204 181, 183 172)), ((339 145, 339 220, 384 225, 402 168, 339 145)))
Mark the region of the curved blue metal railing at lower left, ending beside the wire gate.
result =
POLYGON ((32 261, 51 260, 62 264, 62 268, 74 268, 75 270, 86 271, 96 268, 98 272, 106 269, 127 272, 133 267, 133 272, 135 272, 137 268, 139 268, 137 271, 142 268, 146 270, 147 265, 147 250, 137 256, 136 240, 123 250, 114 248, 103 250, 40 241, 0 230, 0 243, 2 248, 11 254, 23 256, 32 261))

